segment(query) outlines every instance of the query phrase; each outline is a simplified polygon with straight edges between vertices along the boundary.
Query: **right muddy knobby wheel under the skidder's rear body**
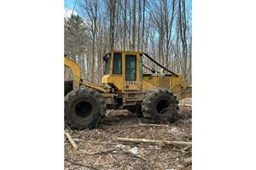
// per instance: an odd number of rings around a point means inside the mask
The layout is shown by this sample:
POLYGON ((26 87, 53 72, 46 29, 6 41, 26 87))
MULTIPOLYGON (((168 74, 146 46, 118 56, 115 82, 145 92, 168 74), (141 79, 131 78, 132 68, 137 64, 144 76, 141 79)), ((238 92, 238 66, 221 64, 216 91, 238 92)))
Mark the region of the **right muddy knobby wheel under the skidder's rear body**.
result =
POLYGON ((177 97, 166 88, 155 88, 143 99, 143 116, 155 123, 172 123, 177 120, 177 97))

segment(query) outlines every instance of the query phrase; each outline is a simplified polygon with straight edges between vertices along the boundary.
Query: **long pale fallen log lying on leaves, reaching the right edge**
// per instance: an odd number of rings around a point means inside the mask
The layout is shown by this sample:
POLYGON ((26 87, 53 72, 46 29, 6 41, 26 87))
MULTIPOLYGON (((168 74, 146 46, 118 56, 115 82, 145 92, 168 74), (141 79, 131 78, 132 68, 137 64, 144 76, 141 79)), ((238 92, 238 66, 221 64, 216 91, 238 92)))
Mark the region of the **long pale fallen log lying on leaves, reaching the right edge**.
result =
POLYGON ((180 145, 192 145, 192 142, 183 141, 167 141, 167 140, 152 140, 152 139, 129 139, 129 138, 117 138, 119 142, 129 142, 129 143, 148 143, 148 144, 180 144, 180 145))

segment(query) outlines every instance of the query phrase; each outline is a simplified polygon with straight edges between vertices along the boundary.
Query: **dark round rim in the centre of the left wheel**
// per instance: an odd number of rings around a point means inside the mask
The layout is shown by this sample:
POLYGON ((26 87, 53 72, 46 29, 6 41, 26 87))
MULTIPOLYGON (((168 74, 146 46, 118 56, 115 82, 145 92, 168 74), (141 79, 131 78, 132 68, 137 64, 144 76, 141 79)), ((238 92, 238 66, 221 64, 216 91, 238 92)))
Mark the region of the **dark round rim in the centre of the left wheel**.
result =
POLYGON ((86 117, 86 116, 90 116, 92 111, 92 106, 90 105, 89 102, 87 101, 81 101, 79 102, 75 108, 74 108, 74 112, 77 116, 80 116, 82 118, 86 117))

